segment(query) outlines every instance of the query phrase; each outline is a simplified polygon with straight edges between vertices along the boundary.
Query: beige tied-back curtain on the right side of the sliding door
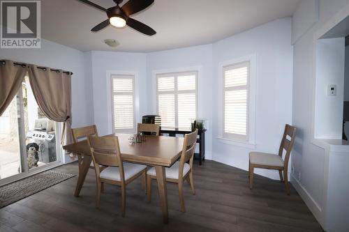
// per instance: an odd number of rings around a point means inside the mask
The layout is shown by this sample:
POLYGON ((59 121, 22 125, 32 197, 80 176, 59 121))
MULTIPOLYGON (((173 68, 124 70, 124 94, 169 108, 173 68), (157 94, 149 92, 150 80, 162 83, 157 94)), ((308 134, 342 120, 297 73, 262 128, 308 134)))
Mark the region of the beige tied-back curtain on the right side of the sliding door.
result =
POLYGON ((71 76, 50 68, 29 67, 29 81, 38 106, 53 121, 64 122, 62 144, 71 144, 71 76))

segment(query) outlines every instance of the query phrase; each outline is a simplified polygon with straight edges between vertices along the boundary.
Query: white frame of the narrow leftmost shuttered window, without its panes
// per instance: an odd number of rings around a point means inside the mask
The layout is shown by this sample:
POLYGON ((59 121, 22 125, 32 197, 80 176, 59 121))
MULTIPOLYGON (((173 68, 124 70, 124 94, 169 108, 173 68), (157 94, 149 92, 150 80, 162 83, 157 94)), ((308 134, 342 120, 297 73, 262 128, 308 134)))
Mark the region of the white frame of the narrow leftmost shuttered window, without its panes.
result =
POLYGON ((111 99, 111 111, 112 111, 112 132, 113 133, 130 133, 135 132, 136 125, 136 108, 135 108, 135 74, 131 73, 110 73, 110 99, 111 99), (114 79, 132 79, 132 94, 128 92, 114 93, 113 81, 114 79), (116 129, 114 123, 114 95, 132 95, 133 99, 133 127, 128 129, 116 129))

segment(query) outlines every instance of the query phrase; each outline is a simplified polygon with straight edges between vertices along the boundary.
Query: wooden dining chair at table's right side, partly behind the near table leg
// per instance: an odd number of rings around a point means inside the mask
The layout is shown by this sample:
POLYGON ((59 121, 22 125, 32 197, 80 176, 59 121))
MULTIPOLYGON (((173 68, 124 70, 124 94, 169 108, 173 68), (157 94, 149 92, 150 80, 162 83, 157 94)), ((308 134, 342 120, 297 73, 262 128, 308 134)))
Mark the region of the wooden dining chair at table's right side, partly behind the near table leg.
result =
MULTIPOLYGON (((178 184, 179 201, 181 203, 181 211, 186 212, 183 195, 183 182, 187 180, 191 185, 191 191, 195 194, 193 183, 193 157, 198 137, 198 129, 191 134, 184 136, 183 149, 179 161, 175 162, 171 167, 165 169, 166 181, 178 184)), ((156 179, 155 168, 152 167, 147 171, 147 199, 151 199, 151 179, 156 179)))

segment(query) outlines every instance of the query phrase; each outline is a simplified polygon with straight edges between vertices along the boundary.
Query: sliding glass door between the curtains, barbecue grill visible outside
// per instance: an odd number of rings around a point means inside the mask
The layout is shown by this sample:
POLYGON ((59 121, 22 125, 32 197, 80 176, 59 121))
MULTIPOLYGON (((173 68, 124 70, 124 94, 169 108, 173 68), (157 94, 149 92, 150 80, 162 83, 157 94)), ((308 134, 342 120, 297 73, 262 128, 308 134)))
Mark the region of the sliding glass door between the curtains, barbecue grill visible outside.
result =
POLYGON ((0 117, 0 183, 61 162, 58 123, 37 105, 29 78, 0 117))

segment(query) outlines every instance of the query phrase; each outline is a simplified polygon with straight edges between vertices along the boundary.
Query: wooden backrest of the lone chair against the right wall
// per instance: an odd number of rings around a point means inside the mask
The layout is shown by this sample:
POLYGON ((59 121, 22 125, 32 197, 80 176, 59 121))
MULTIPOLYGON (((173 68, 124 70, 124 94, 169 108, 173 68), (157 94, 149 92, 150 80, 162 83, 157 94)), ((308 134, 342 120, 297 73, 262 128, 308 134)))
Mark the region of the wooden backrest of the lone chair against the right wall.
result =
POLYGON ((285 167, 288 167, 288 160, 290 159, 292 146, 295 143, 296 139, 296 127, 292 127, 292 125, 285 125, 285 130, 283 132, 283 139, 281 140, 280 148, 279 148, 279 156, 283 157, 283 150, 286 150, 284 164, 285 167))

